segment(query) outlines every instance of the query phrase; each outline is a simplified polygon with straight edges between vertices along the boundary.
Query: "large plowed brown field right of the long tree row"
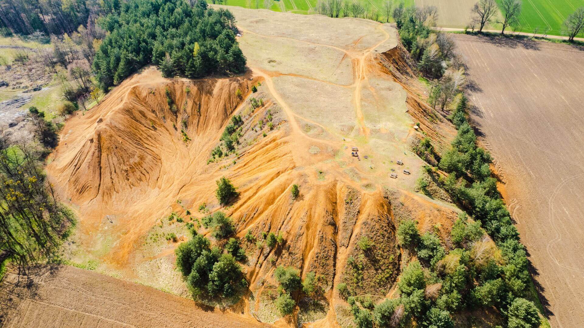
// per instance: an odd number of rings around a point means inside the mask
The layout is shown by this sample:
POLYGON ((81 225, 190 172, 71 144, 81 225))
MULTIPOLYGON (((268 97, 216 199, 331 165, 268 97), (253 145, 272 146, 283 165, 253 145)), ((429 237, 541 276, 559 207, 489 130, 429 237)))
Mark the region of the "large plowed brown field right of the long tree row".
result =
POLYGON ((505 183, 550 322, 584 326, 584 51, 456 35, 472 113, 505 183))

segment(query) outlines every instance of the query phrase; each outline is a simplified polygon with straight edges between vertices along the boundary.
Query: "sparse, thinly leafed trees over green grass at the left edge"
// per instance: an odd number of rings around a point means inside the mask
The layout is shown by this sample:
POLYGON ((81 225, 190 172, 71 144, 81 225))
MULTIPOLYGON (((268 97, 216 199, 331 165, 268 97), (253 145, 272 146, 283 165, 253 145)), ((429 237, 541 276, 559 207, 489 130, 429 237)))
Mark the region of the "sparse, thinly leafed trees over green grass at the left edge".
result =
POLYGON ((11 260, 19 272, 53 259, 75 224, 44 175, 45 153, 0 139, 0 260, 11 260))

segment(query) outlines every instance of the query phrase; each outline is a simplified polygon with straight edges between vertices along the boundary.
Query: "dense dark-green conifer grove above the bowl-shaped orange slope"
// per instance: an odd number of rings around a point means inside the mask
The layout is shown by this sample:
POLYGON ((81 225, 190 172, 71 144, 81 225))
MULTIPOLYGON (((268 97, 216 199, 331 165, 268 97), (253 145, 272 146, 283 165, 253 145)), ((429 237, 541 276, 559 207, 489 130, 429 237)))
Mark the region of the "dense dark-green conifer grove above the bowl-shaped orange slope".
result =
POLYGON ((96 50, 92 68, 105 90, 150 62, 169 77, 245 69, 232 13, 207 8, 204 1, 130 0, 100 19, 100 25, 109 34, 96 50))

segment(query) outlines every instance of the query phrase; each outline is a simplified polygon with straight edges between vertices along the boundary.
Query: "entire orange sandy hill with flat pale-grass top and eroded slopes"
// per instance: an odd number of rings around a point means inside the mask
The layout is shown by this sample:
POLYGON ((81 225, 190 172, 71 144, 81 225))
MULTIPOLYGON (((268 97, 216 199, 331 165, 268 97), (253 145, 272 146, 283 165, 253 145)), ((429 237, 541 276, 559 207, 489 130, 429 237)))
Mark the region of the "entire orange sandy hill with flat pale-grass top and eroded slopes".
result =
MULTIPOLYGON (((286 239, 271 250, 245 244, 251 295, 237 304, 238 313, 281 325, 336 326, 347 312, 334 287, 345 281, 346 259, 357 257, 361 236, 374 242, 376 255, 365 260, 357 292, 378 297, 395 288, 408 260, 395 241, 399 221, 417 219, 421 231, 448 238, 458 210, 415 192, 424 162, 409 149, 423 137, 415 123, 438 151, 456 130, 420 101, 424 91, 391 25, 230 10, 251 68, 245 76, 165 79, 147 67, 98 106, 68 119, 47 166, 79 217, 67 256, 78 266, 189 296, 174 266, 178 244, 160 234, 176 232, 185 240, 184 224, 166 217, 175 211, 196 222, 207 214, 198 211, 205 203, 208 212, 230 215, 240 238, 249 230, 258 237, 281 232, 286 239), (176 113, 166 104, 167 88, 176 113), (263 106, 252 109, 252 96, 263 106), (273 130, 256 125, 268 113, 273 130), (244 120, 236 152, 207 163, 232 114, 244 120), (183 125, 190 140, 183 141, 183 125), (360 159, 351 156, 352 147, 360 159), (398 179, 390 179, 391 169, 398 179), (214 196, 221 176, 241 193, 224 208, 214 196), (296 201, 294 183, 300 186, 296 201), (321 310, 301 306, 291 322, 277 315, 270 293, 279 265, 321 277, 321 310)), ((203 228, 199 233, 208 236, 203 228)))

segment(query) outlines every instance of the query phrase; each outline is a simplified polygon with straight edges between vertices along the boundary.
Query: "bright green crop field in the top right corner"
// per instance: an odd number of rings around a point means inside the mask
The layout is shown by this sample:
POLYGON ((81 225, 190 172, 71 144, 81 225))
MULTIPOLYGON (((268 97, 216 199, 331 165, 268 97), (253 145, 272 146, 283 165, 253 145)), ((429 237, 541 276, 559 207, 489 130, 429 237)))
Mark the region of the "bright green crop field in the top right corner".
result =
MULTIPOLYGON (((501 0, 497 0, 500 4, 501 0)), ((562 23, 584 0, 523 0, 519 27, 522 32, 563 35, 562 23)))

